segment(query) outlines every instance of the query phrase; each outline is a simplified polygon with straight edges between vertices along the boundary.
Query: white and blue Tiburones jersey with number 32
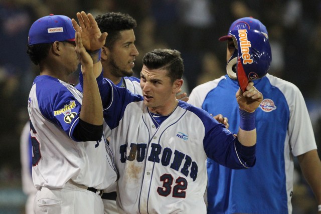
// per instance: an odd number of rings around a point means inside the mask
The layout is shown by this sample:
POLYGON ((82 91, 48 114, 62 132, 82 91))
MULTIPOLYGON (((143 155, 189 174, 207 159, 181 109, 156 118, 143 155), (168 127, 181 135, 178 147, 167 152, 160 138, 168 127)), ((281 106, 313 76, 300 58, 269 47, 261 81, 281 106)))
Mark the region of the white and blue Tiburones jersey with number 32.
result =
POLYGON ((206 111, 179 101, 159 124, 141 96, 107 79, 98 86, 120 175, 120 213, 205 213, 207 156, 232 168, 254 165, 255 148, 244 148, 206 111))

